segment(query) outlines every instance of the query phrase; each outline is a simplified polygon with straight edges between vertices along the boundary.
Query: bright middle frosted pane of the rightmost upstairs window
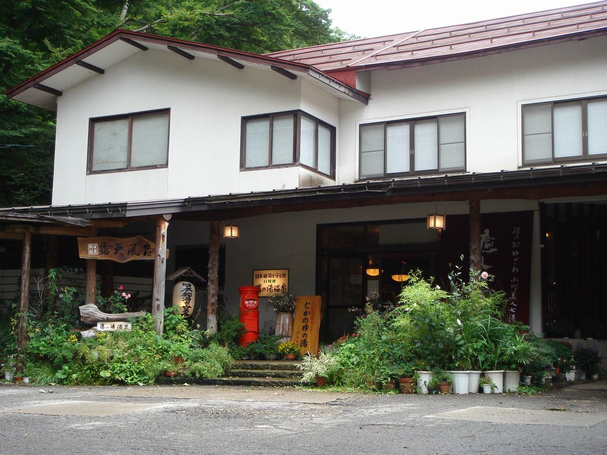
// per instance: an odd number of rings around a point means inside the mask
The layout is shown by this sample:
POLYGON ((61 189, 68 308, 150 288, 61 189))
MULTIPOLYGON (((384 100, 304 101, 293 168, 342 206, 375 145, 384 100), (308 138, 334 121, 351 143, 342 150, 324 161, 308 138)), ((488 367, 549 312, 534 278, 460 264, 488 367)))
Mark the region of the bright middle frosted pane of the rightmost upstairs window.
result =
POLYGON ((554 104, 554 157, 582 156, 582 103, 554 104))

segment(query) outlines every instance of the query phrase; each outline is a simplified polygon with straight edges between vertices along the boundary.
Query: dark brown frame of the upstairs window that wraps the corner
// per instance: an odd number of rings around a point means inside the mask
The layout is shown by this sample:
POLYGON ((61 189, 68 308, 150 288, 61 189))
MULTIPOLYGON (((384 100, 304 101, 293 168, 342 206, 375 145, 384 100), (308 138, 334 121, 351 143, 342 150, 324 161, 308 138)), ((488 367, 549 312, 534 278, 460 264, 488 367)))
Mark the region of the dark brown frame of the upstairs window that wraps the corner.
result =
POLYGON ((320 174, 321 176, 329 177, 330 179, 335 179, 335 157, 336 157, 336 131, 337 129, 327 123, 326 121, 320 120, 318 117, 314 117, 314 115, 308 114, 308 112, 302 111, 300 109, 296 109, 293 111, 281 111, 281 112, 271 112, 270 114, 260 114, 260 115, 248 115, 246 117, 241 118, 240 123, 240 170, 241 171, 257 171, 260 169, 276 169, 276 168, 289 168, 293 166, 300 166, 302 168, 308 169, 314 173, 320 174), (272 164, 272 135, 273 135, 273 121, 276 117, 284 117, 285 115, 293 115, 293 162, 292 163, 282 163, 282 164, 272 164), (300 137, 301 137, 301 119, 302 117, 306 117, 309 120, 313 120, 316 123, 316 132, 314 133, 314 167, 308 166, 300 162, 300 137), (246 166, 246 122, 248 120, 259 120, 260 118, 268 118, 270 120, 270 128, 269 128, 269 139, 268 139, 268 165, 265 166, 246 166), (318 168, 318 129, 319 126, 324 126, 331 132, 331 163, 330 163, 330 174, 326 174, 322 171, 319 171, 318 168))

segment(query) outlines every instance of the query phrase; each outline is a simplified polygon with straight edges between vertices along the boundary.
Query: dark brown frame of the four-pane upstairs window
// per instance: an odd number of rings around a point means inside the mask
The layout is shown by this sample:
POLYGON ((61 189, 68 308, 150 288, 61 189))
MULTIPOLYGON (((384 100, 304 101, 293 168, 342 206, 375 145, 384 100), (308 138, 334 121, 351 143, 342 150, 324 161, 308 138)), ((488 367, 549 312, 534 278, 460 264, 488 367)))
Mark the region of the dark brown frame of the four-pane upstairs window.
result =
POLYGON ((468 156, 468 144, 467 144, 467 125, 466 125, 466 112, 453 112, 452 114, 443 115, 430 115, 429 117, 414 117, 414 118, 399 118, 398 120, 390 121, 374 121, 372 123, 361 123, 358 128, 358 180, 375 180, 375 179, 387 179, 390 177, 409 177, 409 176, 424 176, 439 173, 464 173, 467 169, 467 156, 468 156), (441 128, 439 118, 442 117, 455 117, 456 115, 463 115, 464 117, 464 166, 463 168, 448 168, 441 169, 441 128), (433 120, 436 119, 436 155, 437 155, 437 166, 435 169, 424 169, 423 171, 415 171, 415 122, 422 120, 433 120), (387 172, 387 125, 396 123, 409 123, 409 171, 388 173, 387 172), (384 173, 381 176, 363 176, 362 174, 362 127, 370 125, 384 125, 384 173))

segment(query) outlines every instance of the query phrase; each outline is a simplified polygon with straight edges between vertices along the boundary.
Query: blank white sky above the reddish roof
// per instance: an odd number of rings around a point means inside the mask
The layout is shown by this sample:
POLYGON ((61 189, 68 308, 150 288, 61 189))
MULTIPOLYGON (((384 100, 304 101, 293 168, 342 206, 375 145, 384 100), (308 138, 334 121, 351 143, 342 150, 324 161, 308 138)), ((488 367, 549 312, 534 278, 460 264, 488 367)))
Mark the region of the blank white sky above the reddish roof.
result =
POLYGON ((589 0, 316 0, 333 26, 364 38, 495 19, 583 4, 589 0))

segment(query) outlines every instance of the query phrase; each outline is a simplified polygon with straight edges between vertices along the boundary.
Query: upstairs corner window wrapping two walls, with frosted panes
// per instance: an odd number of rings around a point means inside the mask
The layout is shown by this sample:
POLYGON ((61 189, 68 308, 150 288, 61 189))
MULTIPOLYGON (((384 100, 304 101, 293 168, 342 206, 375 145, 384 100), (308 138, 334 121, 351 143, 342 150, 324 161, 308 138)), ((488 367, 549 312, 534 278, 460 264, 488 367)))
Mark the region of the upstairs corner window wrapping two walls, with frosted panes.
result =
POLYGON ((302 111, 245 117, 242 169, 300 165, 334 176, 335 128, 302 111))

